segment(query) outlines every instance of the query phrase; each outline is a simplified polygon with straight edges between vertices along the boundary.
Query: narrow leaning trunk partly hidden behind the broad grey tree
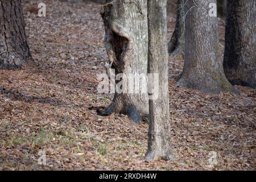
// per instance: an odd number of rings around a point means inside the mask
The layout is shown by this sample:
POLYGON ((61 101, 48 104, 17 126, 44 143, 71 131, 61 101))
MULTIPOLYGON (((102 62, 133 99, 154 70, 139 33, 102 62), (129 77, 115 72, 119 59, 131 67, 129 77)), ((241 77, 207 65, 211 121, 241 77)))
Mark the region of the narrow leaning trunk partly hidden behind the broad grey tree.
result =
POLYGON ((168 52, 172 56, 184 55, 185 44, 185 10, 184 0, 178 1, 177 18, 175 23, 175 30, 172 38, 168 43, 168 52))

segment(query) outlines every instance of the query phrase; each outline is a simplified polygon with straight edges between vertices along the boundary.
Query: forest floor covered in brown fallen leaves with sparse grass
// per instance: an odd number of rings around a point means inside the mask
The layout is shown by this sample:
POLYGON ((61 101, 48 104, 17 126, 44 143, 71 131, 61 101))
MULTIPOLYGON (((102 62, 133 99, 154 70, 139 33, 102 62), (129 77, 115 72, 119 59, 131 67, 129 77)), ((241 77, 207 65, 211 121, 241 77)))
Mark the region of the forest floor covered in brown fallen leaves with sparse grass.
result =
MULTIPOLYGON (((23 1, 23 7, 41 1, 23 1)), ((100 5, 44 0, 47 16, 25 13, 34 65, 0 71, 0 170, 256 169, 256 91, 207 95, 178 88, 181 57, 170 57, 170 113, 176 159, 145 162, 148 125, 101 117, 113 95, 97 93, 108 59, 100 5), (41 152, 40 152, 41 151, 41 152), (38 159, 46 152, 46 165, 38 159), (217 164, 208 160, 216 152, 217 164)), ((168 14, 168 36, 175 17, 168 14)), ((220 20, 223 48, 224 22, 220 20)))

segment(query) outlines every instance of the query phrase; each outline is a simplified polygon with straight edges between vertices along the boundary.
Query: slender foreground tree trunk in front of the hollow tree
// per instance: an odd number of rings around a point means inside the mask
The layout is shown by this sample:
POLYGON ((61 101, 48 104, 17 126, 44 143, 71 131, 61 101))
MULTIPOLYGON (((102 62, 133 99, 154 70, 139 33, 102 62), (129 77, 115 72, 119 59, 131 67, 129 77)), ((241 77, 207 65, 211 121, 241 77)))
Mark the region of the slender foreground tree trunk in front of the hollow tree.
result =
MULTIPOLYGON (((150 127, 146 160, 172 159, 168 92, 166 0, 148 0, 148 73, 159 74, 158 98, 149 101, 150 127), (158 28, 155 28, 158 27, 158 28)), ((151 86, 155 86, 154 84, 151 86)))

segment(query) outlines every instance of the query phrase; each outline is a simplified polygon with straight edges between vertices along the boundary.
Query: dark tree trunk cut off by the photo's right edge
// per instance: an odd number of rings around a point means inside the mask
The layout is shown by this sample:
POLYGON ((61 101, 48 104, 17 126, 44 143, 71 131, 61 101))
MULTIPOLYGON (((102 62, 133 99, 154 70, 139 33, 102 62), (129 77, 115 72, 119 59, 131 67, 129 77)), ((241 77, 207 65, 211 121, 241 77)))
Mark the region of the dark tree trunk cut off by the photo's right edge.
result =
POLYGON ((256 87, 256 0, 228 1, 224 70, 233 85, 256 87))

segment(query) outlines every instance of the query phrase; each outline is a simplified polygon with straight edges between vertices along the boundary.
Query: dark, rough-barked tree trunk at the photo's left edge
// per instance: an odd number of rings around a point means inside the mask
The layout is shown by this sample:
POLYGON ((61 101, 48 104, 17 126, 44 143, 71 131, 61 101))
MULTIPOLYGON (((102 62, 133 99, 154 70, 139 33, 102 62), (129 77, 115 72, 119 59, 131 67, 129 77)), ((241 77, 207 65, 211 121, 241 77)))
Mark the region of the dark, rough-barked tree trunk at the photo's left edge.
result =
POLYGON ((0 0, 0 69, 21 68, 31 59, 20 0, 0 0))

